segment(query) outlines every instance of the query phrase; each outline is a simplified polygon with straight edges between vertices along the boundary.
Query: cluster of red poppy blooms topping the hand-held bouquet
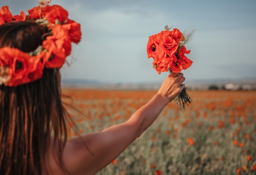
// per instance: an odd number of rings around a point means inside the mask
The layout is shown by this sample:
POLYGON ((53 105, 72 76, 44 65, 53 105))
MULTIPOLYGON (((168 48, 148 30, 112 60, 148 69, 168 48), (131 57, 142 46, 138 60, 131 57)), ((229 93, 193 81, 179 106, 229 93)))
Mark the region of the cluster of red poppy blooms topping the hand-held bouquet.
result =
POLYGON ((184 40, 184 36, 178 29, 164 30, 149 37, 148 58, 153 58, 153 67, 158 74, 167 72, 168 68, 179 73, 193 63, 185 56, 190 53, 186 47, 183 46, 178 52, 180 40, 184 40))

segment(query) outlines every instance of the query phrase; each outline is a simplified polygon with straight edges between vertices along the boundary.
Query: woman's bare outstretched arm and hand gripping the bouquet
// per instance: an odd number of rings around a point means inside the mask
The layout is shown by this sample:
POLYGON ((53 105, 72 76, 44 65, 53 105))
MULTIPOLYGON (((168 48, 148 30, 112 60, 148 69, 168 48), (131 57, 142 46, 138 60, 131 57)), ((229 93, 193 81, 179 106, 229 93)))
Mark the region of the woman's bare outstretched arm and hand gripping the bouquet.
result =
POLYGON ((101 132, 67 141, 64 150, 64 162, 67 169, 74 174, 91 175, 110 164, 157 119, 163 108, 180 94, 184 88, 184 85, 181 85, 184 80, 182 73, 170 74, 157 94, 132 114, 128 121, 106 128, 101 132))

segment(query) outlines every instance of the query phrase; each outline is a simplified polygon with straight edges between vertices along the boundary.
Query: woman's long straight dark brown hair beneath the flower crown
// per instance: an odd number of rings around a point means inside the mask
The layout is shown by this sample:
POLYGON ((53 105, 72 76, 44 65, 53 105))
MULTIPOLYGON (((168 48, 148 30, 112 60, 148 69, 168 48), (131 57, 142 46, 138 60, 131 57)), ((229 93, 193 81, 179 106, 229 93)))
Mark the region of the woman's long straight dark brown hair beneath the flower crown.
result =
MULTIPOLYGON (((5 23, 0 25, 0 48, 31 52, 42 45, 41 36, 46 32, 45 27, 31 21, 5 23)), ((16 87, 0 85, 1 175, 40 175, 51 136, 59 150, 56 160, 64 167, 68 115, 58 81, 56 70, 45 68, 42 78, 34 82, 16 87)))

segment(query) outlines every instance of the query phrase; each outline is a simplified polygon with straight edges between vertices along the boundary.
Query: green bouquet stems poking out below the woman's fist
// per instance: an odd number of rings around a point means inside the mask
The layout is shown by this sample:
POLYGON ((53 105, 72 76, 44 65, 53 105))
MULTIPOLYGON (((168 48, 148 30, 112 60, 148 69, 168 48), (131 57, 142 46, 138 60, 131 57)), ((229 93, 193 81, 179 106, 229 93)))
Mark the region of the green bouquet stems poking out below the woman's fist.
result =
MULTIPOLYGON (((172 73, 171 68, 168 68, 169 73, 172 73)), ((176 97, 175 101, 177 102, 177 105, 179 109, 182 112, 182 120, 183 120, 183 111, 185 110, 185 105, 189 105, 188 103, 192 102, 192 99, 190 98, 189 94, 186 92, 186 87, 180 92, 180 94, 176 97)))

